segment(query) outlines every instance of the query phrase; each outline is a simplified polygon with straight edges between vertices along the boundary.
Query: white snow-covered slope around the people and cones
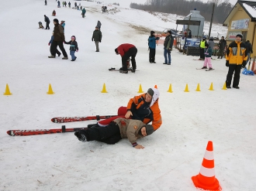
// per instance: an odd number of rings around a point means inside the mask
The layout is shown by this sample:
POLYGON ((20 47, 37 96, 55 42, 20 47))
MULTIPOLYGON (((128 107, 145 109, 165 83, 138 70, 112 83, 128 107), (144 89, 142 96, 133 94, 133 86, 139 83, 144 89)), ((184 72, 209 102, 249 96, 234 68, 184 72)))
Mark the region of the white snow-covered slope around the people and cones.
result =
MULTIPOLYGON (((72 1, 72 6, 74 2, 72 1)), ((192 176, 199 173, 207 142, 213 141, 216 178, 223 190, 251 191, 256 187, 255 77, 240 75, 240 90, 222 90, 225 60, 213 60, 213 70, 195 70, 202 61, 171 53, 171 66, 163 65, 163 46, 157 63, 148 63, 150 30, 175 26, 144 11, 122 9, 102 14, 95 2, 81 2, 86 18, 74 9, 57 9, 57 2, 17 0, 0 7, 0 90, 9 84, 12 96, 0 95, 1 190, 197 190, 192 176), (56 10, 57 16, 51 16, 56 10), (43 15, 50 30, 38 29, 43 15), (66 22, 66 40, 77 37, 75 62, 48 59, 53 19, 66 22), (95 53, 92 32, 102 22, 100 52, 95 53), (143 29, 140 32, 140 29, 143 29), (144 29, 148 29, 147 34, 144 29), (137 46, 137 73, 109 72, 121 66, 114 49, 121 43, 137 46), (107 94, 102 94, 106 84, 107 94), (201 91, 195 91, 197 84, 201 91), (208 90, 213 83, 214 90, 208 90), (54 95, 47 94, 51 84, 54 95), (163 124, 138 141, 116 145, 79 142, 74 133, 11 137, 9 129, 61 128, 50 118, 116 114, 138 95, 157 85, 163 124), (169 85, 173 93, 168 93, 169 85), (189 92, 185 93, 185 85, 189 92)), ((109 8, 110 9, 110 8, 109 8)), ((45 22, 43 22, 45 26, 45 22)), ((207 25, 206 25, 207 26, 207 25)), ((207 29, 206 29, 207 30, 207 29)), ((227 32, 214 25, 212 32, 227 32)), ((64 45, 69 54, 69 46, 64 45)), ((95 121, 66 124, 86 127, 95 121)))

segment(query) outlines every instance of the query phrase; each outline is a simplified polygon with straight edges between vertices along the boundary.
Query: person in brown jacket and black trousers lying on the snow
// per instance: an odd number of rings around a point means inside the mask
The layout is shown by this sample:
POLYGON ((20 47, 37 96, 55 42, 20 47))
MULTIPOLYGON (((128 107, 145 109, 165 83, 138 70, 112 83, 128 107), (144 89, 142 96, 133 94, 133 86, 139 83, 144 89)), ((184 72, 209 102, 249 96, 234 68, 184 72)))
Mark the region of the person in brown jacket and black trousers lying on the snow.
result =
POLYGON ((151 135, 154 128, 150 124, 144 124, 140 120, 116 118, 106 127, 95 127, 78 130, 74 135, 81 142, 105 142, 113 145, 122 138, 128 138, 134 148, 140 149, 144 146, 137 144, 138 138, 151 135))

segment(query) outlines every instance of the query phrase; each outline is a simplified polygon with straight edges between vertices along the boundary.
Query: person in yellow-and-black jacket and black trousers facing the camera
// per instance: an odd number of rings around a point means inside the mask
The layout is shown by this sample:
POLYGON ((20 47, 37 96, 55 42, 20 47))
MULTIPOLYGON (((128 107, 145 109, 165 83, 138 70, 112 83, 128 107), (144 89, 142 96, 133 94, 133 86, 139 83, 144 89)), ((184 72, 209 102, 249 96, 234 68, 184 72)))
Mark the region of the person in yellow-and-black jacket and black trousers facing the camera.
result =
POLYGON ((228 68, 226 86, 231 88, 231 81, 234 73, 233 87, 239 89, 240 70, 245 67, 247 60, 247 50, 242 42, 242 34, 237 34, 236 40, 230 43, 226 53, 226 67, 228 68))

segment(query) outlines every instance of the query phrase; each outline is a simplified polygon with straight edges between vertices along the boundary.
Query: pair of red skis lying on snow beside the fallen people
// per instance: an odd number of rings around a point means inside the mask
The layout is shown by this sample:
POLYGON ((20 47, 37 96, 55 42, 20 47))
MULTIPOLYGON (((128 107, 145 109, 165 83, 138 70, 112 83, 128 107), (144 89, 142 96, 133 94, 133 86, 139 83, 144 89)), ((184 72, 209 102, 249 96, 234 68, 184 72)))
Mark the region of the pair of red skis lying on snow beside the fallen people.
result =
MULTIPOLYGON (((54 123, 67 123, 75 121, 89 121, 107 119, 115 117, 116 115, 96 115, 96 116, 87 116, 87 117, 59 117, 52 118, 51 121, 54 123)), ((65 125, 62 125, 62 128, 52 128, 52 129, 29 129, 29 130, 9 130, 7 134, 10 136, 28 136, 28 135, 44 135, 44 134, 53 134, 53 133, 64 133, 64 132, 74 132, 81 129, 87 128, 66 128, 65 125)))

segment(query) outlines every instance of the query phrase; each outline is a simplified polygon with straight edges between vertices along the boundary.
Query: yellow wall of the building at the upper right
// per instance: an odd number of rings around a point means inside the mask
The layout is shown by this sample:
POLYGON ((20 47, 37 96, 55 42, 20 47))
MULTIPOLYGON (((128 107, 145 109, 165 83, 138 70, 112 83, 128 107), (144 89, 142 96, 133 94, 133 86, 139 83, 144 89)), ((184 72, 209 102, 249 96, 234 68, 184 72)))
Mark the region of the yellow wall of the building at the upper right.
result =
MULTIPOLYGON (((229 34, 230 31, 241 31, 241 32, 247 32, 247 37, 246 39, 243 39, 243 41, 247 41, 250 40, 250 43, 253 45, 253 49, 256 52, 256 36, 254 35, 254 33, 256 31, 254 31, 255 29, 255 24, 256 22, 251 22, 251 17, 249 15, 247 15, 247 12, 244 11, 244 9, 242 7, 240 7, 237 12, 234 14, 234 16, 232 17, 232 19, 230 19, 229 25, 228 25, 228 31, 227 31, 227 35, 229 34), (236 21, 236 20, 240 20, 240 19, 249 19, 249 24, 248 24, 248 28, 247 29, 231 29, 231 23, 232 21, 236 21), (254 36, 254 38, 253 38, 254 36), (253 42, 254 39, 254 42, 253 42)), ((229 45, 232 41, 227 40, 227 45, 229 45)), ((256 56, 256 53, 251 54, 251 57, 256 56)))

